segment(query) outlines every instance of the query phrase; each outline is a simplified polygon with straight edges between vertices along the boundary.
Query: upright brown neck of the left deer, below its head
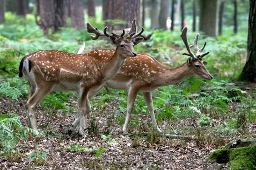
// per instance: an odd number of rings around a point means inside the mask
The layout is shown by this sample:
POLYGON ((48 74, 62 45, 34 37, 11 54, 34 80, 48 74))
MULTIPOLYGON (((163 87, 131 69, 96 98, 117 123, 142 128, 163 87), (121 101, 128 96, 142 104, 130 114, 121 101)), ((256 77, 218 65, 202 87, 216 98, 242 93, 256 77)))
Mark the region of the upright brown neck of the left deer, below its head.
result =
POLYGON ((125 57, 123 56, 122 49, 117 46, 112 58, 105 64, 105 67, 102 69, 104 80, 109 80, 114 75, 116 75, 118 70, 123 66, 124 61, 125 57))

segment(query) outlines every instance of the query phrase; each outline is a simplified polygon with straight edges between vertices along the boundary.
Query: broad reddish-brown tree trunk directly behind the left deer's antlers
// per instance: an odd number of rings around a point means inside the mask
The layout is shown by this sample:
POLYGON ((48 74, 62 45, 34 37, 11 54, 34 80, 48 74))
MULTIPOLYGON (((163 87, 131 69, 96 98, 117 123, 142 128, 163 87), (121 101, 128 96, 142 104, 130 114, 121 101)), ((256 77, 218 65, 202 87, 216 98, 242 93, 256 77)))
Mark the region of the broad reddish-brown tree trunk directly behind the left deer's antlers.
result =
MULTIPOLYGON (((124 20, 124 24, 115 26, 115 30, 128 28, 134 18, 139 26, 140 20, 140 0, 103 0, 103 20, 124 20)), ((110 23, 106 23, 110 26, 110 23)), ((114 27, 112 27, 114 29, 114 27)))

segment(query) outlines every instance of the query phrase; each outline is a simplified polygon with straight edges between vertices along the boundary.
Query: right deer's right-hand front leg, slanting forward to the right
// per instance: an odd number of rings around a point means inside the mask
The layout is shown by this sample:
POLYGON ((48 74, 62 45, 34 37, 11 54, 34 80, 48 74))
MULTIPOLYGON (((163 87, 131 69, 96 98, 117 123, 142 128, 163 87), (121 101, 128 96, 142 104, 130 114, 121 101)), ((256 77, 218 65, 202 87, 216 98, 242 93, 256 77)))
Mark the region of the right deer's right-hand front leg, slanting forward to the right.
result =
POLYGON ((149 110, 149 113, 150 113, 150 117, 151 117, 151 121, 153 123, 153 127, 154 129, 158 132, 158 133, 162 133, 161 129, 158 128, 157 126, 157 122, 155 120, 155 116, 154 116, 154 105, 153 105, 153 100, 152 100, 152 95, 151 95, 151 92, 144 92, 143 93, 143 96, 146 100, 146 105, 147 105, 147 108, 149 110))

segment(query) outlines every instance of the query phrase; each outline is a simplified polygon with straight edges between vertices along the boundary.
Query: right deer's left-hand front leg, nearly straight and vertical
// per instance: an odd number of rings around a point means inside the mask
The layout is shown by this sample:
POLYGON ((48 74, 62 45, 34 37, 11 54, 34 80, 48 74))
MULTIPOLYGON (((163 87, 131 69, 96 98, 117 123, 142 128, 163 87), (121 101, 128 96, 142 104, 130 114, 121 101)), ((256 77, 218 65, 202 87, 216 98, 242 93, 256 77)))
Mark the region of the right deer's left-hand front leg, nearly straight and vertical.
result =
POLYGON ((128 92, 128 97, 127 97, 127 114, 126 114, 126 118, 125 118, 125 122, 124 122, 124 127, 123 127, 123 134, 124 135, 128 135, 128 123, 129 123, 129 119, 132 113, 132 109, 134 106, 134 102, 136 99, 136 96, 138 94, 139 90, 134 89, 134 88, 130 88, 129 92, 128 92))

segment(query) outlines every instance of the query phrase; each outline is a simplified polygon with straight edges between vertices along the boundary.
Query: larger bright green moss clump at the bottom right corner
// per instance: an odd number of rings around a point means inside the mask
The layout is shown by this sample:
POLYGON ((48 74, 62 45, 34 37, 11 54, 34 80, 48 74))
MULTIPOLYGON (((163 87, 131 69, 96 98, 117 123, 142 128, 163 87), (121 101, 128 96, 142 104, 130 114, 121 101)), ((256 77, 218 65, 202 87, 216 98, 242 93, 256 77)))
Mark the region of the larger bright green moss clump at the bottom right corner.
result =
POLYGON ((256 145, 244 148, 234 148, 229 153, 231 170, 255 170, 256 145))

